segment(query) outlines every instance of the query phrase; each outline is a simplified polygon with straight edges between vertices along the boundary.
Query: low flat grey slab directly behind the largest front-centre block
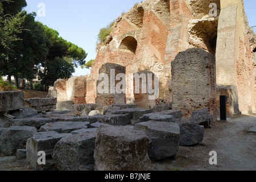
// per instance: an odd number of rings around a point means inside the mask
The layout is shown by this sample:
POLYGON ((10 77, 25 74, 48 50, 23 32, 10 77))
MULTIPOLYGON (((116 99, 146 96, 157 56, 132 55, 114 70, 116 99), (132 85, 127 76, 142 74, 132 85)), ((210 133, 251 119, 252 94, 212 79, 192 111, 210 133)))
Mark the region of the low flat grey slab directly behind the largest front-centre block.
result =
POLYGON ((97 118, 97 121, 114 126, 125 126, 131 123, 129 114, 102 115, 97 118))

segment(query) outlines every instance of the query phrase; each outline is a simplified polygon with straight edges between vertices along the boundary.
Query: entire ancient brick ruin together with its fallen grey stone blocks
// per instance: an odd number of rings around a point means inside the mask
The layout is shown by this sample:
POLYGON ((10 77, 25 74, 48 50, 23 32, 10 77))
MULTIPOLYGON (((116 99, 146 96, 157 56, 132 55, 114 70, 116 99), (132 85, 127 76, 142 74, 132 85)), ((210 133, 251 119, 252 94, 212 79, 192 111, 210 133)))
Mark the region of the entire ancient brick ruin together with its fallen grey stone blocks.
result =
POLYGON ((90 77, 57 80, 47 98, 0 92, 0 154, 35 170, 150 170, 203 141, 219 96, 229 117, 255 110, 255 40, 242 0, 138 3, 90 77))

